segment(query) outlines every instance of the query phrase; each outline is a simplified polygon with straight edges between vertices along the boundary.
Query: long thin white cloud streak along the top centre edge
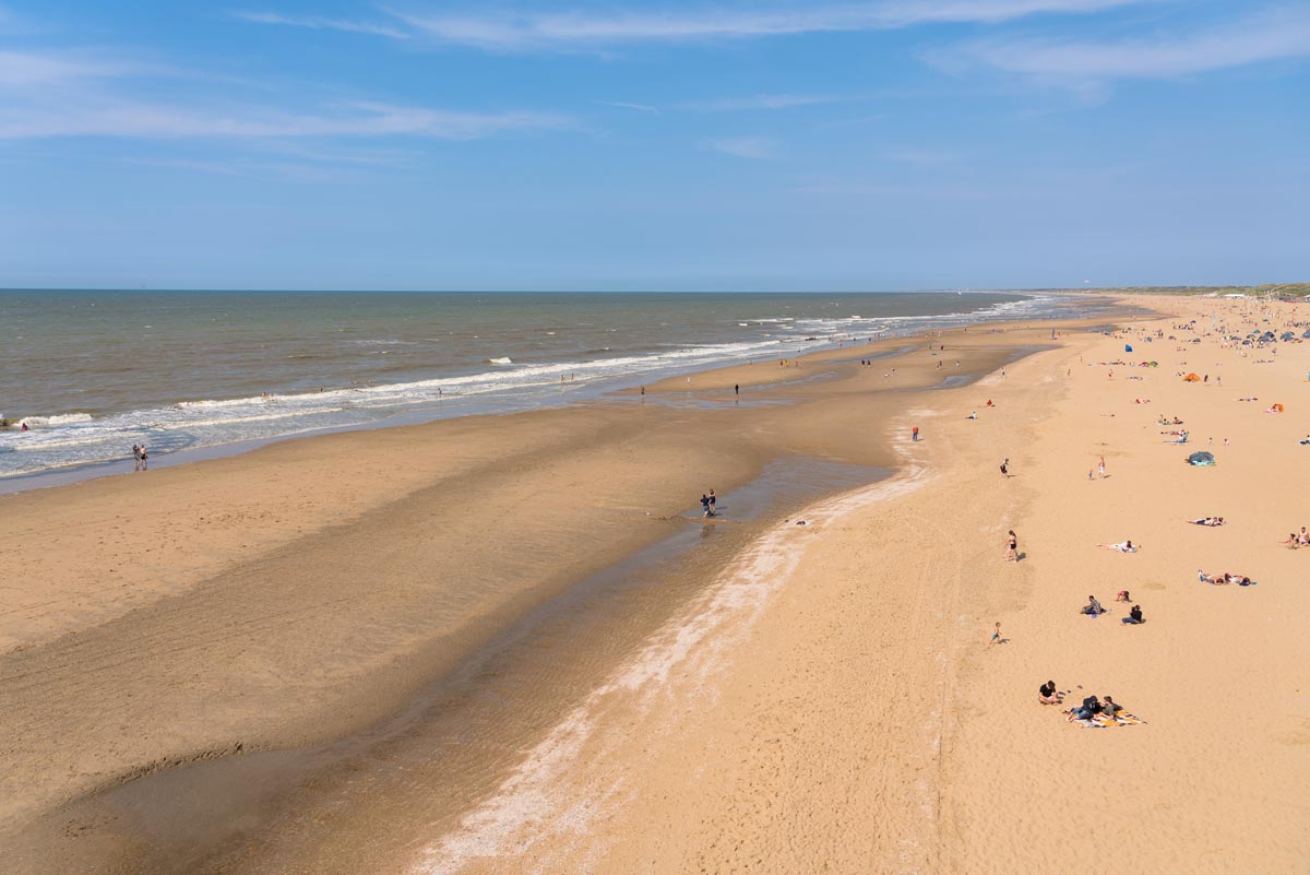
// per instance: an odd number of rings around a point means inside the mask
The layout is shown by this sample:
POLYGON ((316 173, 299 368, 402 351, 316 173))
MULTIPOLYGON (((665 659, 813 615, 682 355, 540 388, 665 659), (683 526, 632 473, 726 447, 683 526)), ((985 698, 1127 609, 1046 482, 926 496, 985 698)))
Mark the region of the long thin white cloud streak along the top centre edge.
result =
POLYGON ((430 39, 494 51, 579 50, 618 43, 747 39, 887 30, 933 22, 1000 22, 1043 13, 1086 13, 1144 0, 884 0, 758 10, 664 13, 388 12, 430 39))

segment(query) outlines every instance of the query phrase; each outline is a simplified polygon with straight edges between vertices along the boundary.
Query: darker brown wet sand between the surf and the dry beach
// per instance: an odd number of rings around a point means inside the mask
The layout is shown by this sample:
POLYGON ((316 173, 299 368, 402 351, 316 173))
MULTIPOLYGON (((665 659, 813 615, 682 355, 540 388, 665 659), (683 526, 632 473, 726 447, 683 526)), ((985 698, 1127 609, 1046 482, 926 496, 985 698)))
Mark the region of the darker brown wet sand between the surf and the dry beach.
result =
MULTIPOLYGON (((968 338, 959 376, 1045 330, 968 338)), ((690 394, 652 386, 645 401, 328 435, 0 499, 21 520, 0 534, 22 568, 0 618, 0 816, 16 871, 236 871, 228 854, 241 871, 295 871, 328 847, 346 859, 350 842, 313 838, 304 812, 339 810, 329 789, 342 775, 394 781, 358 765, 392 747, 436 770, 414 786, 444 807, 423 816, 457 817, 761 527, 896 461, 879 423, 947 376, 905 350, 858 351, 901 351, 888 379, 841 351, 802 380, 747 365, 741 398, 713 388, 720 372, 690 394), (658 574, 631 575, 658 586, 605 578, 651 545, 679 553, 668 544, 689 527, 701 538, 680 517, 710 486, 720 524, 658 574), (736 519, 735 495, 757 516, 736 519), (578 588, 595 575, 609 583, 578 588), (562 633, 542 631, 558 622, 591 630, 563 635, 572 673, 562 633), (510 696, 499 677, 515 672, 510 696), (528 703, 494 715, 489 697, 528 703), (428 762, 434 739, 460 756, 428 762), (185 768, 196 762, 208 765, 185 768)), ((351 816, 367 821, 384 795, 351 816)))

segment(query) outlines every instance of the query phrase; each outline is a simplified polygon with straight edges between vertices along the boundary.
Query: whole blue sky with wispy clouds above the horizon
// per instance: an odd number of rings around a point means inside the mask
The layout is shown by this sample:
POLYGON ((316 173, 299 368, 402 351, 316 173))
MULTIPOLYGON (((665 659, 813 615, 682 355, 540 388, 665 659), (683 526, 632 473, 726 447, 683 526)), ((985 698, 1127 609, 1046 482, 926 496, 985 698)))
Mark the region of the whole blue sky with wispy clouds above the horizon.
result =
POLYGON ((1306 0, 0 0, 0 287, 1307 279, 1306 0))

